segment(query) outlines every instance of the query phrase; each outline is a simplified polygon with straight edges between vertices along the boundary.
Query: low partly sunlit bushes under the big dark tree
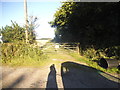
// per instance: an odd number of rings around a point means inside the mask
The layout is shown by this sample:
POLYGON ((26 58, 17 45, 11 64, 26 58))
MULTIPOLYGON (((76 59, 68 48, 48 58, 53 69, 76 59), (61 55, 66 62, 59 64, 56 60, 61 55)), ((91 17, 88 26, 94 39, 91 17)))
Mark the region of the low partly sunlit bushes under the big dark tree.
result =
POLYGON ((115 58, 120 59, 120 46, 113 46, 104 49, 94 49, 94 48, 87 48, 83 50, 83 54, 85 57, 94 60, 97 58, 115 58))

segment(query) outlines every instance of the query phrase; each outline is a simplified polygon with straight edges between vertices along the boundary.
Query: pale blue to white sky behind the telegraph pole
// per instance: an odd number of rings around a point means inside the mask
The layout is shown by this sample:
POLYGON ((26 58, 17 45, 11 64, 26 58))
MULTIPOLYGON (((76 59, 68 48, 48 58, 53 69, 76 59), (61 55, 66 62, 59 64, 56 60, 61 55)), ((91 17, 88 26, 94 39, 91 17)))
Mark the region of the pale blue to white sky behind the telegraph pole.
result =
MULTIPOLYGON (((19 1, 19 0, 18 0, 19 1)), ((35 29, 37 38, 54 38, 54 28, 48 22, 53 20, 53 15, 61 6, 60 1, 35 1, 27 2, 28 16, 37 16, 37 24, 40 26, 35 29)), ((25 24, 24 3, 23 2, 0 2, 0 27, 11 25, 11 20, 20 26, 25 24), (2 17, 2 18, 1 18, 2 17)))

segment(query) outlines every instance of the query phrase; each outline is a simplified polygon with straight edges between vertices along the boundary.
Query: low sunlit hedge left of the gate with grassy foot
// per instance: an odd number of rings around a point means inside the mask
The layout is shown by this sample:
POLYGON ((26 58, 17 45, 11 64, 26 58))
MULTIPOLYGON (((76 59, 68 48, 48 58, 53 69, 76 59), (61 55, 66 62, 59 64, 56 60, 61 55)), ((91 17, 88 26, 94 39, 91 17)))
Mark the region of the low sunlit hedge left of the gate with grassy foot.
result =
MULTIPOLYGON (((42 63, 47 56, 34 45, 25 44, 23 42, 17 43, 3 43, 2 45, 2 63, 3 64, 33 64, 42 63)), ((34 65, 33 65, 34 66, 34 65)))

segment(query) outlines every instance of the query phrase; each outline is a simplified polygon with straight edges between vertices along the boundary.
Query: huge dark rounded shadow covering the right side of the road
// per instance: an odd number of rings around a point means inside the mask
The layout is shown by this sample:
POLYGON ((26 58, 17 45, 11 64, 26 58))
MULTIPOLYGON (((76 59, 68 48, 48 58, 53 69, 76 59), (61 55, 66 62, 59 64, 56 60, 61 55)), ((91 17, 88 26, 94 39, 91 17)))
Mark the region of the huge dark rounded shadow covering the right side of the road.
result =
POLYGON ((101 75, 102 73, 104 72, 74 62, 64 62, 61 64, 64 88, 118 88, 118 84, 120 84, 118 82, 119 79, 109 80, 101 75))

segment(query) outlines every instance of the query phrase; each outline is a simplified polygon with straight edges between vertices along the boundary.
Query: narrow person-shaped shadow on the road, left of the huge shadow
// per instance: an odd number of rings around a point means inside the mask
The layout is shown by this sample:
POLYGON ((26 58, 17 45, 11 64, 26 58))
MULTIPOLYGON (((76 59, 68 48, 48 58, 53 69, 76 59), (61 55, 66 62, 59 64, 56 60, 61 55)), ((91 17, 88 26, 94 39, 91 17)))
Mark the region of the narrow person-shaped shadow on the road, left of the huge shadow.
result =
POLYGON ((51 88, 54 88, 55 90, 58 89, 57 82, 56 82, 56 69, 54 64, 50 66, 50 73, 48 75, 48 80, 46 84, 46 90, 51 88))

